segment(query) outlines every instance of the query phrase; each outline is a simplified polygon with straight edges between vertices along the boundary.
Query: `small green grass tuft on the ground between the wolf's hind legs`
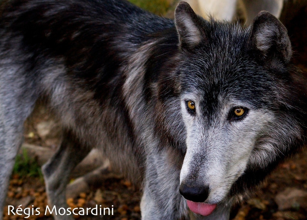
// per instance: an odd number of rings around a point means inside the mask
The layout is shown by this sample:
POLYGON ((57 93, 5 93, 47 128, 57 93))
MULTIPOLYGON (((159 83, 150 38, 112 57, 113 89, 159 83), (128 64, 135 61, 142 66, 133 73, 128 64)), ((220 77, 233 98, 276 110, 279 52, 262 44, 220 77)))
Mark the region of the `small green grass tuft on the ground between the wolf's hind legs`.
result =
POLYGON ((23 149, 22 154, 16 156, 13 174, 18 174, 21 177, 43 178, 41 167, 35 159, 29 157, 26 149, 23 149))

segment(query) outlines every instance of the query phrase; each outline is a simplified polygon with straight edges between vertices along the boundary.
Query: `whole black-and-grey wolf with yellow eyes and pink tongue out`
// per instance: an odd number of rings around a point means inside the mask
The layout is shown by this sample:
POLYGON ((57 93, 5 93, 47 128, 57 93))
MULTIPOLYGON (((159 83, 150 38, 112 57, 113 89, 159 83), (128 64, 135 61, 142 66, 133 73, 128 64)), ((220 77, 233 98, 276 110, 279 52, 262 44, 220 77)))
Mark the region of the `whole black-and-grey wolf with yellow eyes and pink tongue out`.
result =
POLYGON ((51 206, 67 207, 69 173, 97 147, 141 183, 142 219, 188 219, 189 209, 228 219, 306 142, 306 82, 291 54, 268 12, 243 29, 185 2, 175 21, 120 0, 3 2, 1 211, 23 122, 44 99, 64 127, 43 166, 51 206))

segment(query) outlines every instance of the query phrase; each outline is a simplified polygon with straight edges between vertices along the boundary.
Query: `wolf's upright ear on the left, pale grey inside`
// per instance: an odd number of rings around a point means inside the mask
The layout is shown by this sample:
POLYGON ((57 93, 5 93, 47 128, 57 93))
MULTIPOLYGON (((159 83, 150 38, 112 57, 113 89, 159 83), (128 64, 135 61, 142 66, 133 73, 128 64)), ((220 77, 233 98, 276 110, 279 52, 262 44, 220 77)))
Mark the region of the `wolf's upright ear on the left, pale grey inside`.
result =
POLYGON ((187 2, 180 2, 176 7, 175 25, 181 47, 195 47, 205 38, 204 24, 187 2))

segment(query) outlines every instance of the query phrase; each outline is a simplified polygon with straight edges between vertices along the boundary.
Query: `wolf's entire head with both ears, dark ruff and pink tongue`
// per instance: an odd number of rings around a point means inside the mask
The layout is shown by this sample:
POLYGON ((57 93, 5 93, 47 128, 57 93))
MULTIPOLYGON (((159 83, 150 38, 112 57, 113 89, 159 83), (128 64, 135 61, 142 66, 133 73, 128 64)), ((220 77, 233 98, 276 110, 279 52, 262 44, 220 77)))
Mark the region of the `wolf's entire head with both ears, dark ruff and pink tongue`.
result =
POLYGON ((185 128, 180 192, 205 215, 214 205, 198 202, 245 192, 302 145, 306 99, 290 68, 286 28, 270 13, 242 29, 206 21, 181 2, 175 24, 176 68, 160 85, 165 133, 180 143, 176 132, 185 128))

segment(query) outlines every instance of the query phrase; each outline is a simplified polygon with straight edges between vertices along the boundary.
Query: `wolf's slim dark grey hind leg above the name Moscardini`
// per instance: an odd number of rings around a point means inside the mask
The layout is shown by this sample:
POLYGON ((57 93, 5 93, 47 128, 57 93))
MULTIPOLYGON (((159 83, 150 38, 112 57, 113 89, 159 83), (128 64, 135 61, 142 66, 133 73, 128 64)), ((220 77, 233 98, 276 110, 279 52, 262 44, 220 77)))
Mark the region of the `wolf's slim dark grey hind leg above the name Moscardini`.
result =
POLYGON ((66 185, 69 175, 75 166, 89 153, 90 148, 82 146, 71 131, 64 132, 63 140, 58 151, 42 167, 45 178, 49 208, 56 207, 55 219, 73 219, 70 215, 59 215, 59 208, 67 209, 66 185))

